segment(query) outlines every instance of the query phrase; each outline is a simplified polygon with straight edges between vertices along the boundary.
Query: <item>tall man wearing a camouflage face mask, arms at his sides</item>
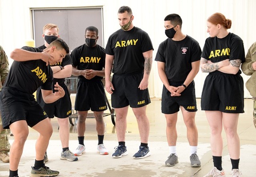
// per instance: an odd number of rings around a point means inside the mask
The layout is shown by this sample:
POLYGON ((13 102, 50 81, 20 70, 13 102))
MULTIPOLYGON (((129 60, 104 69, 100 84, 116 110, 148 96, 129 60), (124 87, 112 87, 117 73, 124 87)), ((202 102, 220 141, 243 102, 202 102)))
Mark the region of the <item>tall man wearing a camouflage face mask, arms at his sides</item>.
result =
POLYGON ((128 6, 119 8, 118 20, 121 29, 108 39, 105 65, 106 90, 111 94, 112 107, 116 111, 116 134, 119 144, 112 157, 119 158, 128 154, 125 132, 130 105, 137 118, 141 140, 140 149, 133 158, 141 159, 150 155, 146 105, 150 103, 148 79, 152 66, 153 46, 148 34, 132 24, 134 16, 128 6), (114 73, 112 82, 111 71, 114 73))

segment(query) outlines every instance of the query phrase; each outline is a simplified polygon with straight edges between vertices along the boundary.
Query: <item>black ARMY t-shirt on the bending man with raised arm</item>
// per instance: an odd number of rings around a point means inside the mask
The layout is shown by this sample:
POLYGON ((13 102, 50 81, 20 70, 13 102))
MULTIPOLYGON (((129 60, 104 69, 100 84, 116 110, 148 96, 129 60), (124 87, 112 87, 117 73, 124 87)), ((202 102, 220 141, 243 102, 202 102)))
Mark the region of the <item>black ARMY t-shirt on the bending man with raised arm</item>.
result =
MULTIPOLYGON (((42 52, 34 47, 22 47, 32 52, 42 52)), ((13 87, 22 92, 33 94, 42 86, 44 90, 52 90, 53 73, 50 66, 41 59, 31 61, 14 61, 10 67, 5 87, 13 87)))

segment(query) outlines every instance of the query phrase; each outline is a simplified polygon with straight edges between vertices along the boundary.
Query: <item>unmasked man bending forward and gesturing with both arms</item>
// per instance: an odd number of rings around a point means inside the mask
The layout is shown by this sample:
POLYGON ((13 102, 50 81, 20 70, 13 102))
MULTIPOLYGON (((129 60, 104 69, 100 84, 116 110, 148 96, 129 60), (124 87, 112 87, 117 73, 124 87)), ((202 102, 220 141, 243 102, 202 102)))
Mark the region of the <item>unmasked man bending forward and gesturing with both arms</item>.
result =
POLYGON ((52 135, 52 125, 33 93, 42 86, 42 96, 46 103, 54 102, 65 95, 58 83, 54 85, 56 92, 52 92, 53 73, 50 65, 62 62, 67 53, 68 45, 62 39, 57 39, 44 50, 23 47, 10 54, 15 61, 0 92, 3 127, 10 127, 14 135, 10 149, 10 177, 18 176, 18 164, 28 137, 28 126, 39 132, 36 160, 30 177, 59 174, 58 171, 44 166, 44 153, 52 135))

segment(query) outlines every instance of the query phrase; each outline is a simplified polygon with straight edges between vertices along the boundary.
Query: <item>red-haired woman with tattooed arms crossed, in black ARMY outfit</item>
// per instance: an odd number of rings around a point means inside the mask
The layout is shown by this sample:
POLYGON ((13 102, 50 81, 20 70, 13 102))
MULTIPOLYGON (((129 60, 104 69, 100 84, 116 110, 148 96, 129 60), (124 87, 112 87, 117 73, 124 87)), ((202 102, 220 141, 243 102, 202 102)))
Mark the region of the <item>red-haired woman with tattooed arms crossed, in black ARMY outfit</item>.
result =
POLYGON ((204 177, 225 175, 222 169, 222 127, 226 132, 232 163, 232 176, 240 177, 240 140, 237 134, 239 113, 244 112, 244 81, 240 65, 245 61, 244 43, 228 32, 231 20, 215 13, 206 22, 210 34, 201 55, 201 70, 209 73, 204 81, 201 108, 211 129, 214 167, 204 177))

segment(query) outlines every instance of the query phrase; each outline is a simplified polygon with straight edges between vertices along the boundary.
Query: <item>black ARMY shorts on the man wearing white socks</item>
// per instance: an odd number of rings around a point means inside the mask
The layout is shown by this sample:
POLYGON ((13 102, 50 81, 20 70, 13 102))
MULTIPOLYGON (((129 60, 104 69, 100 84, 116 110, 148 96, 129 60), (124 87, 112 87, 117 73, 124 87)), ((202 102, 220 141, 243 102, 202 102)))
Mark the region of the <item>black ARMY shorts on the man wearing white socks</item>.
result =
MULTIPOLYGON (((178 87, 183 82, 171 82, 169 84, 174 87, 178 87)), ((196 93, 195 83, 192 81, 187 88, 180 93, 180 96, 171 96, 171 92, 163 87, 162 91, 162 113, 174 114, 180 110, 180 106, 183 106, 185 110, 189 112, 196 112, 196 93)))

